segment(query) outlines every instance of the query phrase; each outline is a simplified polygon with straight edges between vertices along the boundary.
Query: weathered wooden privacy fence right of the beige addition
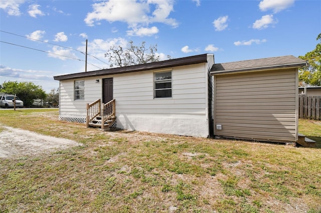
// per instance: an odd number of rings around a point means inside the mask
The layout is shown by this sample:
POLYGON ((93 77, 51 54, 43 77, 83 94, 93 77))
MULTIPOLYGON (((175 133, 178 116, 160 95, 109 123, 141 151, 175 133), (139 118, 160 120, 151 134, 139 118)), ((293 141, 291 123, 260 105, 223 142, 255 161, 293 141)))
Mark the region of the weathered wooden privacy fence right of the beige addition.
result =
POLYGON ((321 96, 299 94, 299 118, 321 120, 321 96))

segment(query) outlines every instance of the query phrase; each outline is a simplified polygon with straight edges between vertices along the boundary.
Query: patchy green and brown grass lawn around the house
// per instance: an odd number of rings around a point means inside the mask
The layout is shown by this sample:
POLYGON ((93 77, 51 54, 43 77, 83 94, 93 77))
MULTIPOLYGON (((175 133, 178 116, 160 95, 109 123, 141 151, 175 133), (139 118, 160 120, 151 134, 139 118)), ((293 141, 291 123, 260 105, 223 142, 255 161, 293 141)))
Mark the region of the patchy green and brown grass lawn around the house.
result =
MULTIPOLYGON (((0 110, 0 123, 83 143, 0 158, 0 212, 321 212, 321 148, 103 132, 57 109, 0 110)), ((320 122, 299 131, 321 143, 320 122)))

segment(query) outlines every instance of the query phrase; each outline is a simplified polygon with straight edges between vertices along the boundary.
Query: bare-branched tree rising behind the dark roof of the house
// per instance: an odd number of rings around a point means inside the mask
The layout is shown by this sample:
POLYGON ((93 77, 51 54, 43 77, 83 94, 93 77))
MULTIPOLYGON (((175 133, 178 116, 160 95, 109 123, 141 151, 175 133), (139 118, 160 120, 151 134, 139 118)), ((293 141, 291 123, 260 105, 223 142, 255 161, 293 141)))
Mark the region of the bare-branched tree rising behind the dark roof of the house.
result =
MULTIPOLYGON (((105 53, 105 57, 110 62, 110 68, 119 66, 137 65, 159 61, 157 52, 157 44, 145 47, 145 41, 142 41, 139 46, 134 45, 130 40, 125 48, 120 45, 113 45, 105 53)), ((167 56, 171 58, 170 55, 167 56)))

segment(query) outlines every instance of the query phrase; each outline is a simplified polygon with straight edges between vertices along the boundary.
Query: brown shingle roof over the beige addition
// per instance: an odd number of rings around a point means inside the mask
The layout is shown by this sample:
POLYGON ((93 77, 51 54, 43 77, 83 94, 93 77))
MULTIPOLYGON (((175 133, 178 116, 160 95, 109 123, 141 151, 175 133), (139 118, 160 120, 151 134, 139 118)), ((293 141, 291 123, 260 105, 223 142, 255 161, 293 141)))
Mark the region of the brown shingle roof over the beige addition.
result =
POLYGON ((228 63, 216 63, 211 68, 212 74, 239 72, 251 70, 263 70, 284 67, 300 67, 306 65, 306 61, 293 55, 268 57, 253 60, 241 60, 228 63))

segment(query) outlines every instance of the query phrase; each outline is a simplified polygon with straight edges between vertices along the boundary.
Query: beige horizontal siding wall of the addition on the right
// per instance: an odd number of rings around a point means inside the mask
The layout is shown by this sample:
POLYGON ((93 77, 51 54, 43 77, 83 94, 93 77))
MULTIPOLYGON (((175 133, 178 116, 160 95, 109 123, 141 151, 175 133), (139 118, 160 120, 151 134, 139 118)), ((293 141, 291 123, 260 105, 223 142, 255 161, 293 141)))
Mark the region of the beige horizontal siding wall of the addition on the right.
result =
POLYGON ((296 69, 215 76, 219 136, 295 141, 296 69))

